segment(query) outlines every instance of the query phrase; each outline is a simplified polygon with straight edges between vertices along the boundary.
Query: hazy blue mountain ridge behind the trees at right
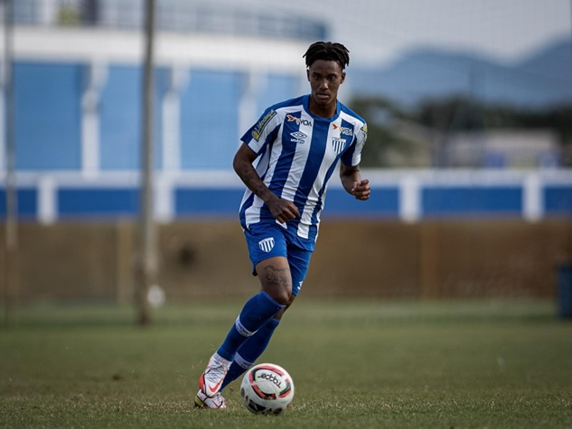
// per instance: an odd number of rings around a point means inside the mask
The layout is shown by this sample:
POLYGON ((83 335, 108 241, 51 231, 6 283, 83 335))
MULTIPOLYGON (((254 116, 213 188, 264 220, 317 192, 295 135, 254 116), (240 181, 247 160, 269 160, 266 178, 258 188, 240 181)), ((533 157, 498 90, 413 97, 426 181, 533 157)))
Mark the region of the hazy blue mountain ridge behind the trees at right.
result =
POLYGON ((416 49, 387 67, 353 69, 348 82, 356 95, 404 105, 454 94, 531 108, 572 104, 572 46, 553 43, 512 65, 463 52, 416 49))

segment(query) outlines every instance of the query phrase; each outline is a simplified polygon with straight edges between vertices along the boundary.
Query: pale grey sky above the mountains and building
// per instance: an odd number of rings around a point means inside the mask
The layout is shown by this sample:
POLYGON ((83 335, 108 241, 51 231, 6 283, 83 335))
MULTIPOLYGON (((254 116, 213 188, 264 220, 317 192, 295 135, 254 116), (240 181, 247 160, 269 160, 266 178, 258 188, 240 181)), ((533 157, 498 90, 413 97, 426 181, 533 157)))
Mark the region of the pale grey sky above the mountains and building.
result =
MULTIPOLYGON (((209 3, 229 4, 229 0, 209 3)), ((236 2, 230 2, 237 5, 236 2)), ((419 46, 465 50, 513 62, 555 39, 570 38, 572 0, 240 0, 328 23, 355 64, 394 60, 419 46)))

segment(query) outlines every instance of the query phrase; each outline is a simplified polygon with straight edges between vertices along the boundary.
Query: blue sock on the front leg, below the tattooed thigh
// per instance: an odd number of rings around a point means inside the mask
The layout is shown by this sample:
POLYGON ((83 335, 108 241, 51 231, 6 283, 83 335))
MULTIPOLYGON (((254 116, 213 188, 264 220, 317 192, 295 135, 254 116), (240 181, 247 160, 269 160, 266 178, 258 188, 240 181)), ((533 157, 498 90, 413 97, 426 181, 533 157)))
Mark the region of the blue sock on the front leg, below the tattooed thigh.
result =
POLYGON ((236 351, 244 341, 284 307, 273 300, 268 293, 257 293, 244 304, 239 317, 236 318, 235 324, 232 325, 217 353, 224 359, 234 360, 236 351))

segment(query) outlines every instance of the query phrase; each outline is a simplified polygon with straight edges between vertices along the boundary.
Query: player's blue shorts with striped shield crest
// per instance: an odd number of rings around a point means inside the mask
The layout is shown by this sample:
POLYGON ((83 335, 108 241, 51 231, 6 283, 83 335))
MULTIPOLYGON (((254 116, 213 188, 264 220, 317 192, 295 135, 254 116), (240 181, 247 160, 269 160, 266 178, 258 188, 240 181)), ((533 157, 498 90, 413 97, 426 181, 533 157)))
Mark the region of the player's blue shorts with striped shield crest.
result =
POLYGON ((271 223, 257 223, 244 230, 248 255, 252 261, 252 274, 256 276, 256 265, 265 259, 284 256, 290 265, 292 293, 298 295, 308 272, 312 251, 303 247, 305 239, 291 231, 271 223))

